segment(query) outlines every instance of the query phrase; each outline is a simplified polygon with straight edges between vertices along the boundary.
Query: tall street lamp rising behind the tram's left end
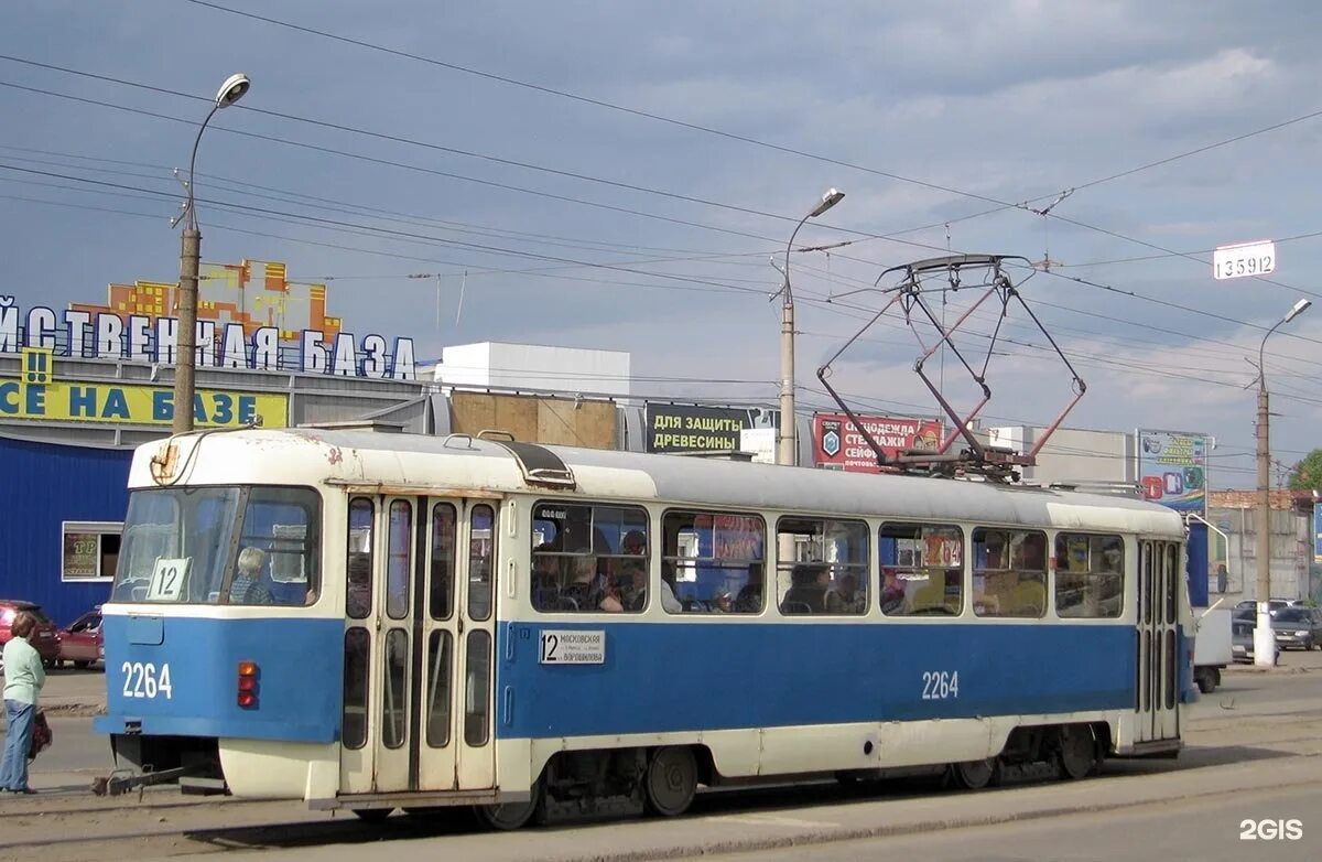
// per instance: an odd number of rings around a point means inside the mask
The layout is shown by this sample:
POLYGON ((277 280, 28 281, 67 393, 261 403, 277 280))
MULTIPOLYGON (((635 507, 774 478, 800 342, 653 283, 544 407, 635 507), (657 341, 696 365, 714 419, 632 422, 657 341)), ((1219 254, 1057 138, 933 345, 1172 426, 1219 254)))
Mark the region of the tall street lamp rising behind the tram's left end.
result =
POLYGON ((202 234, 197 230, 197 209, 193 204, 193 169, 197 167, 197 145, 202 141, 202 132, 212 122, 215 112, 226 108, 249 91, 253 82, 247 75, 239 73, 225 79, 215 93, 215 104, 202 120, 202 127, 197 130, 193 140, 193 155, 188 160, 188 200, 184 204, 182 214, 175 221, 184 219, 184 234, 178 253, 178 332, 176 333, 175 349, 175 434, 188 434, 193 430, 193 393, 196 386, 194 369, 197 366, 197 270, 202 254, 202 234))

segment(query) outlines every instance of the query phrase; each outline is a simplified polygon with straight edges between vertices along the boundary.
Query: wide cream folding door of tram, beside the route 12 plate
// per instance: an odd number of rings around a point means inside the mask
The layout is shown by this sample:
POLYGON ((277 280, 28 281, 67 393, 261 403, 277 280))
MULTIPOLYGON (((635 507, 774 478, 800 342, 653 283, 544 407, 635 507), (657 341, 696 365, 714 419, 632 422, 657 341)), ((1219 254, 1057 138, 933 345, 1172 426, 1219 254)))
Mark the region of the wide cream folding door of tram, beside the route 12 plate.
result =
POLYGON ((344 793, 494 787, 496 513, 484 500, 350 500, 344 793), (356 518, 373 534, 358 539, 374 558, 366 615, 354 604, 364 592, 353 568, 356 518), (356 612, 366 625, 356 624, 356 612), (352 666, 350 640, 366 641, 361 669, 352 666), (360 701, 361 731, 350 721, 360 701))

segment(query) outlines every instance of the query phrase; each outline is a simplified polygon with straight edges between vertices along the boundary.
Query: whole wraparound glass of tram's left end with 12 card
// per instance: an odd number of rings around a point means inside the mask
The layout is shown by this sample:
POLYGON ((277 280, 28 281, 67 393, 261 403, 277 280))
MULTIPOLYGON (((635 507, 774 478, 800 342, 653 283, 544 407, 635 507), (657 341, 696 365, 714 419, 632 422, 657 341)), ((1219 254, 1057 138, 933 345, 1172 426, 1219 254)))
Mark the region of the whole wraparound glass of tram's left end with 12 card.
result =
POLYGON ((128 498, 114 602, 309 604, 320 500, 308 488, 152 488, 128 498))

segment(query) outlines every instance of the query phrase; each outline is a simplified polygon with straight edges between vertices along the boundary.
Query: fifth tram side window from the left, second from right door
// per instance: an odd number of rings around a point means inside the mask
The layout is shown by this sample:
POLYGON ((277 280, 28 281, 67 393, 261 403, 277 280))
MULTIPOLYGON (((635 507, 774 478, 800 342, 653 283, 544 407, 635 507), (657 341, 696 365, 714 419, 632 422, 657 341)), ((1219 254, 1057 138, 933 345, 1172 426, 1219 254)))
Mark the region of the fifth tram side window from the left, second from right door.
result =
POLYGON ((973 530, 973 612, 1036 619, 1047 607, 1047 534, 973 530))

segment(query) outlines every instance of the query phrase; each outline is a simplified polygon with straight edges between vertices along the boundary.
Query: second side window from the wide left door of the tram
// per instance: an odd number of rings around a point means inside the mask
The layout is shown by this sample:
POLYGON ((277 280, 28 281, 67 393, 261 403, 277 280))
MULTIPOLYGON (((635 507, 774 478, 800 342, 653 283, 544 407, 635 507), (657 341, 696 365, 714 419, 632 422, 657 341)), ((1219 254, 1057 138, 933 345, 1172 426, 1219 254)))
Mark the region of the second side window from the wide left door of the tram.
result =
POLYGON ((661 533, 668 613, 761 613, 767 526, 759 516, 666 512, 661 533))

